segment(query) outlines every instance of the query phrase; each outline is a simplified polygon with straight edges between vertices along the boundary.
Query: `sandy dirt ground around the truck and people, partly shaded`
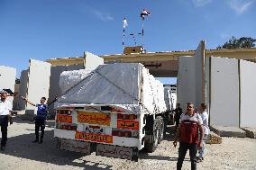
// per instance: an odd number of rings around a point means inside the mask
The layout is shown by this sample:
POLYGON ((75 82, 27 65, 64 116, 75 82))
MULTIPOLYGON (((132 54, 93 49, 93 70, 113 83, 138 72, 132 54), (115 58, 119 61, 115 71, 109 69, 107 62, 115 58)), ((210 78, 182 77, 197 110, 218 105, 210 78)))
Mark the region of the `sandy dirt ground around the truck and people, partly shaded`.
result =
MULTIPOLYGON (((44 143, 33 144, 33 122, 14 119, 14 124, 8 127, 6 150, 0 151, 0 169, 176 169, 178 148, 173 148, 171 136, 162 141, 154 153, 140 153, 139 161, 132 162, 98 157, 95 153, 83 156, 58 150, 53 125, 53 121, 48 121, 44 143)), ((222 144, 206 145, 206 148, 205 160, 197 164, 197 169, 256 170, 256 139, 223 138, 222 144)), ((183 169, 190 169, 188 153, 183 169)))

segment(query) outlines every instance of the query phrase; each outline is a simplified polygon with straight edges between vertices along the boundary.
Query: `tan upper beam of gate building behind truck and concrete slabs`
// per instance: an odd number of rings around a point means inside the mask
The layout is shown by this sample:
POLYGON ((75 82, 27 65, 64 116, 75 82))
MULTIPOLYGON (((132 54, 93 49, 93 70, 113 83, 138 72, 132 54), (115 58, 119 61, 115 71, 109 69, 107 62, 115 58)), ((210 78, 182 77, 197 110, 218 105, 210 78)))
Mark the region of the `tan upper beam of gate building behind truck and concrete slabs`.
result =
MULTIPOLYGON (((206 58, 215 56, 221 58, 244 59, 256 61, 256 49, 206 49, 206 58)), ((176 77, 178 74, 178 57, 195 55, 195 50, 142 52, 130 54, 100 55, 105 63, 125 62, 142 63, 150 69, 153 76, 176 77)), ((84 65, 85 55, 76 58, 50 58, 46 60, 52 66, 84 65)))

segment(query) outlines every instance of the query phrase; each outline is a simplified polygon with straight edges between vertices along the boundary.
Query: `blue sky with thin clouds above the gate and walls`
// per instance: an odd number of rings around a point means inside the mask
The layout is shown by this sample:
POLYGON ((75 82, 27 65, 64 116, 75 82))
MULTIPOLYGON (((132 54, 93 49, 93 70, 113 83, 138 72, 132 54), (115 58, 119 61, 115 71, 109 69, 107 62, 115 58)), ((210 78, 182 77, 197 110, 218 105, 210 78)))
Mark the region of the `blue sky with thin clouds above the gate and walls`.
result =
MULTIPOLYGON (((143 8, 151 12, 144 22, 147 51, 197 49, 200 40, 215 49, 232 36, 256 38, 256 0, 0 0, 0 65, 20 76, 30 58, 120 54, 123 17, 124 43, 133 46, 129 34, 142 31, 143 8)), ((142 44, 138 34, 136 41, 142 44)))

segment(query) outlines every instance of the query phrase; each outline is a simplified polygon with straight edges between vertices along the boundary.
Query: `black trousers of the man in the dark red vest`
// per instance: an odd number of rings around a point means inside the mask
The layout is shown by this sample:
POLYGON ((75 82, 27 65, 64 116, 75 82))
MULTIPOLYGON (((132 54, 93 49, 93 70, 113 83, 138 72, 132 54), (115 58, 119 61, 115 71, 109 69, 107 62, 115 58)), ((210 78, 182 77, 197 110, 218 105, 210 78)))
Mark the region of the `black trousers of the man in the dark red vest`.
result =
POLYGON ((187 149, 189 150, 191 170, 197 169, 197 144, 187 144, 179 142, 177 170, 181 170, 184 158, 187 153, 187 149))

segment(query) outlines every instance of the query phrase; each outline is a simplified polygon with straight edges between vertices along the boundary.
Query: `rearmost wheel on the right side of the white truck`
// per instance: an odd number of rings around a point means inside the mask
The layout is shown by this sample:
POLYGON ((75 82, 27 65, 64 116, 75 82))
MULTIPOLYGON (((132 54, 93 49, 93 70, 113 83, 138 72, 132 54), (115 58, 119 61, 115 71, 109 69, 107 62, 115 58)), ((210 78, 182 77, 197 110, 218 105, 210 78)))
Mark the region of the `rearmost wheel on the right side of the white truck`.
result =
POLYGON ((153 123, 151 142, 145 142, 145 151, 148 153, 154 152, 158 147, 159 139, 160 139, 160 117, 157 117, 153 123))

